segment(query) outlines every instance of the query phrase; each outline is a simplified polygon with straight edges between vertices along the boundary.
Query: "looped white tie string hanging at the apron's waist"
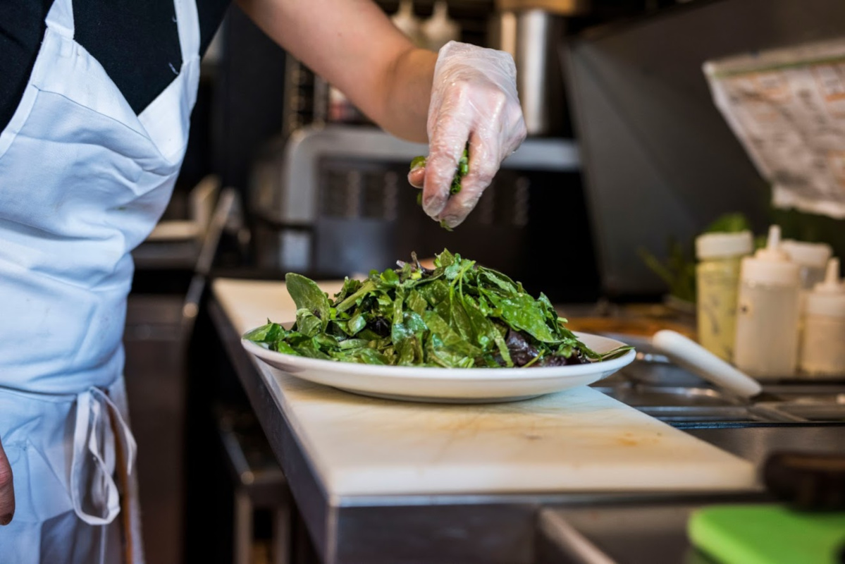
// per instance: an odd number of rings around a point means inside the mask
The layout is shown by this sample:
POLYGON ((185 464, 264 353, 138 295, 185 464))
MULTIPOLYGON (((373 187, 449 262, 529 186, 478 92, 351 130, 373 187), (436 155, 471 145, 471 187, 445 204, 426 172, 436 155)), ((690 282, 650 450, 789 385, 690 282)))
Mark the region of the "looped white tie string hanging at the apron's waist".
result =
POLYGON ((123 453, 126 472, 131 474, 136 451, 132 431, 105 393, 91 386, 77 395, 70 496, 74 512, 85 523, 106 525, 117 517, 120 493, 113 477, 117 452, 123 453), (117 440, 123 443, 122 449, 117 448, 117 440))

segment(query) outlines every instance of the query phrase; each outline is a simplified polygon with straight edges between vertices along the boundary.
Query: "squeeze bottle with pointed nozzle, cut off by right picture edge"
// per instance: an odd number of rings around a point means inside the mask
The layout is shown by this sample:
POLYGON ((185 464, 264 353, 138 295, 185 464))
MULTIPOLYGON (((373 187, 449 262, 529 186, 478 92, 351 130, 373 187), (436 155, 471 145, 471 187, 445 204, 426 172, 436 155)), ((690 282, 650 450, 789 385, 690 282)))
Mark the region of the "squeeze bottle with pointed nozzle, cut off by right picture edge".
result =
POLYGON ((824 282, 804 295, 800 368, 813 378, 845 375, 845 284, 839 260, 827 261, 824 282))

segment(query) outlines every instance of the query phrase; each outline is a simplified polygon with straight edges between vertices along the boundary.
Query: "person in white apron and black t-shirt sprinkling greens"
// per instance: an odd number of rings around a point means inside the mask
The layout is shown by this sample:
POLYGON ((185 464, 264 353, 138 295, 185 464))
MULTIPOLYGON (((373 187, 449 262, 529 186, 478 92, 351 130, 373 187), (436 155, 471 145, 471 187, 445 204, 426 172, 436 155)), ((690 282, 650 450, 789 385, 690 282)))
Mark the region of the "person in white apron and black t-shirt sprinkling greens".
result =
MULTIPOLYGON (((414 48, 363 0, 246 0, 384 129, 455 227, 526 129, 510 56, 414 48), (469 143, 469 173, 450 196, 469 143)), ((0 3, 0 562, 143 561, 121 345, 129 255, 170 198, 222 0, 0 3)), ((143 453, 141 453, 143 456, 143 453)))

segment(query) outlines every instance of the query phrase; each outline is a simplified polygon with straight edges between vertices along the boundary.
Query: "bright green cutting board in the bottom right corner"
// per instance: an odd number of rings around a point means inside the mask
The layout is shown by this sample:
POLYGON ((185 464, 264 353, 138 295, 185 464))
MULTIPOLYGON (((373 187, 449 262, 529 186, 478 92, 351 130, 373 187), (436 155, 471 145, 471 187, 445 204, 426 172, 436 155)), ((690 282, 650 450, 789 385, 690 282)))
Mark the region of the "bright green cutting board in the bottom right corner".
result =
POLYGON ((695 546, 722 564, 840 564, 845 512, 712 506, 693 513, 688 533, 695 546))

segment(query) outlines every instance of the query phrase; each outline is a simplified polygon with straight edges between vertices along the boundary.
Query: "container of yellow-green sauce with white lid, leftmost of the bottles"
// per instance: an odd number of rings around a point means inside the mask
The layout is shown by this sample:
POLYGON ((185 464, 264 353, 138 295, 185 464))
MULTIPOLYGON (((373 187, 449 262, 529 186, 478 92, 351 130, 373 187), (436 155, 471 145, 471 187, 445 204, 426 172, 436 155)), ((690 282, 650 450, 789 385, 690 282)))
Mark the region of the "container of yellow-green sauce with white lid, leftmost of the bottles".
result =
POLYGON ((705 233, 695 238, 698 342, 723 360, 733 360, 739 267, 750 255, 750 231, 705 233))

